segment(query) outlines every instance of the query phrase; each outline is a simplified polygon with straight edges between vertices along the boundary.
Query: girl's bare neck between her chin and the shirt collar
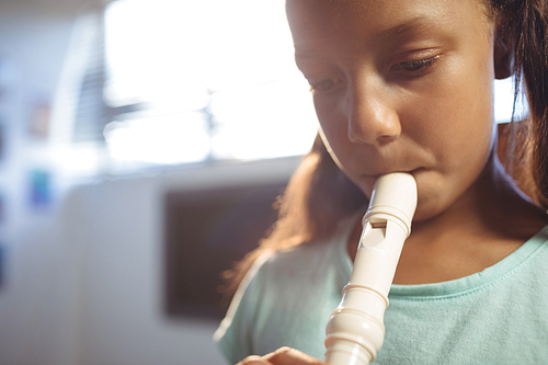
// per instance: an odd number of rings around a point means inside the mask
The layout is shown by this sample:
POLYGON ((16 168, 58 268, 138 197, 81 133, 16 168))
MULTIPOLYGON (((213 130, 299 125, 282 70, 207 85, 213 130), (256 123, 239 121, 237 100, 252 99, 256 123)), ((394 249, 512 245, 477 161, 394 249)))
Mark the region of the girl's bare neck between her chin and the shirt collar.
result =
MULTIPOLYGON (((545 212, 509 181, 493 153, 482 175, 449 209, 413 223, 395 283, 436 283, 480 272, 547 224, 545 212)), ((349 241, 352 259, 361 230, 358 220, 349 241)))

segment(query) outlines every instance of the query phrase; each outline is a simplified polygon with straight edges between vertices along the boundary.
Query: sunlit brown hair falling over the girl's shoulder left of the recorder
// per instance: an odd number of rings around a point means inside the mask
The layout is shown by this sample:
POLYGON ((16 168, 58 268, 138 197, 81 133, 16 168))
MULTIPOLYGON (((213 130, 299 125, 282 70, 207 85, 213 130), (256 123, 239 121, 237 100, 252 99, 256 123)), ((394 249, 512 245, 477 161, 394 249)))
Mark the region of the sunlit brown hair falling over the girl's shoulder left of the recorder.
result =
POLYGON ((276 202, 278 219, 259 247, 224 273, 232 294, 249 267, 266 251, 317 242, 334 233, 341 219, 367 204, 362 191, 336 167, 318 136, 276 202))

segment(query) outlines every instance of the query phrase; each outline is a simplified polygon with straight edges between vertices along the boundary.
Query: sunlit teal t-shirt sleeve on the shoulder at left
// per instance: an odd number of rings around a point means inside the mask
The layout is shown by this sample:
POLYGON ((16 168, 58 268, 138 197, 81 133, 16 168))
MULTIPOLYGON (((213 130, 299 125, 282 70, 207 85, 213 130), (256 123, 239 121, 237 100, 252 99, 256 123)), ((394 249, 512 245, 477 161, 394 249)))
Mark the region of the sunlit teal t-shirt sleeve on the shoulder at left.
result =
POLYGON ((253 288, 260 286, 258 271, 272 255, 263 253, 250 267, 232 301, 225 319, 214 334, 214 341, 230 364, 236 364, 253 353, 253 320, 258 300, 251 300, 256 293, 253 288))

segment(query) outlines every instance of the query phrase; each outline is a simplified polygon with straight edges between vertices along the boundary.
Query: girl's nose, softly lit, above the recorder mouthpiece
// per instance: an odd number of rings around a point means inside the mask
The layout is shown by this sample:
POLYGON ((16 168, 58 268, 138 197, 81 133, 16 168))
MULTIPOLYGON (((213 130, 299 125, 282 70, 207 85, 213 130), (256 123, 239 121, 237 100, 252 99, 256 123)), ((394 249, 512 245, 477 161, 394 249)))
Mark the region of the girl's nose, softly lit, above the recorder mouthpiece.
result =
POLYGON ((379 147, 400 136, 399 116, 387 96, 370 85, 353 88, 347 100, 349 139, 352 142, 379 147))

